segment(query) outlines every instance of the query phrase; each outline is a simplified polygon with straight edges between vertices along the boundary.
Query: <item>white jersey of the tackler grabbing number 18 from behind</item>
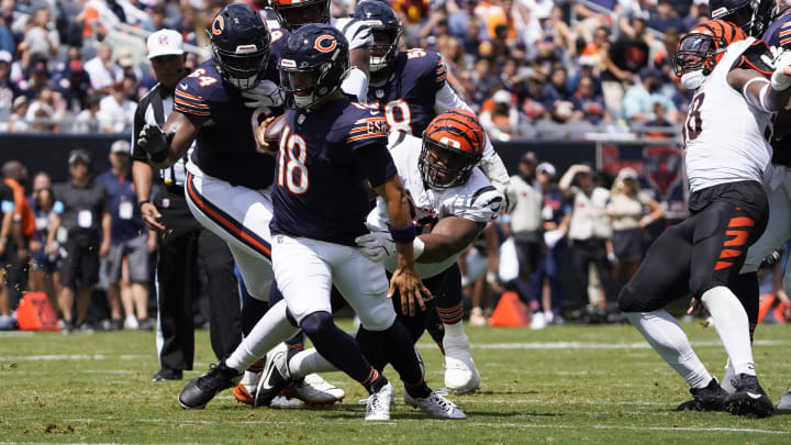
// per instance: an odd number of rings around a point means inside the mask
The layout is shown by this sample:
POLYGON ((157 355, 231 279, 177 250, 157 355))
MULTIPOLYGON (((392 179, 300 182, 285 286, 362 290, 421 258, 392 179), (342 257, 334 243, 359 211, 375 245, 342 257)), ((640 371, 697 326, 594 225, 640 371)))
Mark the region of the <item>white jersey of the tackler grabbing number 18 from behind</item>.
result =
MULTIPOLYGON (((420 137, 406 133, 392 132, 388 136, 390 155, 403 183, 414 222, 419 227, 424 227, 424 233, 431 231, 431 227, 445 216, 459 216, 480 223, 498 219, 502 194, 478 168, 472 170, 472 175, 464 186, 449 189, 426 188, 417 166, 422 146, 420 137)), ((382 198, 377 198, 376 209, 368 214, 368 225, 371 230, 386 232, 389 223, 387 204, 382 198)), ((417 271, 422 278, 436 276, 450 267, 464 251, 442 263, 416 263, 417 271)), ((385 267, 393 271, 397 262, 398 258, 393 255, 385 262, 385 267)))

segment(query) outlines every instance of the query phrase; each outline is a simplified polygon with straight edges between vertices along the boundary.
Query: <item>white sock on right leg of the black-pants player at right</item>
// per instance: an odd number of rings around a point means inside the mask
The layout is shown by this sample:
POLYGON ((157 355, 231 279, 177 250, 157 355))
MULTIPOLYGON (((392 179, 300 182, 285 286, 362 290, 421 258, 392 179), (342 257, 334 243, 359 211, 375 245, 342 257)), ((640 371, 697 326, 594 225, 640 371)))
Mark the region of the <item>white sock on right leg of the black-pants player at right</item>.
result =
POLYGON ((734 372, 755 376, 753 346, 749 341, 749 321, 742 302, 725 286, 713 287, 701 296, 701 301, 714 319, 714 329, 733 364, 734 372))

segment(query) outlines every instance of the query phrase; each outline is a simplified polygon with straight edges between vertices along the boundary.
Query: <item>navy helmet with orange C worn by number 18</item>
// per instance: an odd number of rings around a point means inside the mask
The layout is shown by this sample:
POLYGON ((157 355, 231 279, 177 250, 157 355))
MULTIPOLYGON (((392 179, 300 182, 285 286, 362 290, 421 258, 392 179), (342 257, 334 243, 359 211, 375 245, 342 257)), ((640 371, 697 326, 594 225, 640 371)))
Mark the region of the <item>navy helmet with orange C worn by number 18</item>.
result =
POLYGON ((343 33, 326 24, 309 24, 286 43, 280 86, 297 108, 315 108, 341 88, 348 70, 348 42, 343 33))

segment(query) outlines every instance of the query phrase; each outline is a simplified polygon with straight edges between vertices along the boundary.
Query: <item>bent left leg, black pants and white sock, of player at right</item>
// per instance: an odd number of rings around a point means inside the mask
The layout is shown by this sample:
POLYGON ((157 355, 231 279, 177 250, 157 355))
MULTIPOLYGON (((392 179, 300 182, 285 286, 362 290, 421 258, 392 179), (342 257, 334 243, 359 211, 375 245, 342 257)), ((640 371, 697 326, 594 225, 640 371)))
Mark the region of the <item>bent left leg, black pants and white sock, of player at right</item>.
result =
POLYGON ((688 293, 694 216, 669 227, 657 238, 643 264, 619 296, 619 305, 665 361, 689 383, 703 389, 712 380, 681 325, 661 309, 688 293))

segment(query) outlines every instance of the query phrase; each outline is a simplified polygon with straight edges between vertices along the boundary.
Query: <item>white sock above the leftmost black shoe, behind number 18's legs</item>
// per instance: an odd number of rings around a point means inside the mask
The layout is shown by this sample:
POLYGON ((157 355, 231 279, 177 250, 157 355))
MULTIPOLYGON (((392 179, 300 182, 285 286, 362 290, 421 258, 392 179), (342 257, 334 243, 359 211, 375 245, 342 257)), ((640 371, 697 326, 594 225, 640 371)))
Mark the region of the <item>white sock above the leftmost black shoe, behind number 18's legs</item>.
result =
POLYGON ((247 369, 278 343, 289 340, 299 331, 286 318, 286 300, 269 308, 258 320, 253 331, 225 359, 225 365, 234 369, 247 369))

